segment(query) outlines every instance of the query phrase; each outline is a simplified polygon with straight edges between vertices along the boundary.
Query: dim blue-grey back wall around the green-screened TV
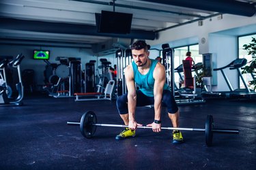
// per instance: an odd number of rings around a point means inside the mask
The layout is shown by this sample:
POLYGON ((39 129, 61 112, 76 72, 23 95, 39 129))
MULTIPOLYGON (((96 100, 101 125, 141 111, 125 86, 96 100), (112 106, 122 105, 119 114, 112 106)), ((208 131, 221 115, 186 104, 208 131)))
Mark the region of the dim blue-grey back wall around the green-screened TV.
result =
MULTIPOLYGON (((57 56, 81 58, 82 70, 85 69, 85 63, 89 62, 90 60, 97 61, 97 57, 93 56, 90 49, 1 45, 1 56, 7 55, 16 57, 20 53, 25 56, 20 65, 20 69, 21 71, 24 69, 33 69, 35 71, 35 86, 37 86, 37 90, 40 90, 40 86, 44 85, 44 69, 46 66, 44 61, 33 59, 33 50, 38 49, 50 50, 50 63, 59 63, 59 61, 55 61, 57 56)), ((16 78, 15 74, 14 78, 16 78)))

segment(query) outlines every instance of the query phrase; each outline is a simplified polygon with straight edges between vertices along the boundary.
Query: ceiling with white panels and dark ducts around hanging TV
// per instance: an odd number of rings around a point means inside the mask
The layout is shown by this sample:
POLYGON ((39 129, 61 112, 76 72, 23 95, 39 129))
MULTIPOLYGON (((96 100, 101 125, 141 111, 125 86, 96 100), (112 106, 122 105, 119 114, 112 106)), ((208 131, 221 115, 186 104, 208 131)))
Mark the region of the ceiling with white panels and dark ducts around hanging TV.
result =
POLYGON ((154 39, 157 33, 221 14, 255 15, 256 0, 1 0, 0 43, 91 48, 122 39, 154 39), (133 14, 130 34, 96 31, 95 13, 133 14))

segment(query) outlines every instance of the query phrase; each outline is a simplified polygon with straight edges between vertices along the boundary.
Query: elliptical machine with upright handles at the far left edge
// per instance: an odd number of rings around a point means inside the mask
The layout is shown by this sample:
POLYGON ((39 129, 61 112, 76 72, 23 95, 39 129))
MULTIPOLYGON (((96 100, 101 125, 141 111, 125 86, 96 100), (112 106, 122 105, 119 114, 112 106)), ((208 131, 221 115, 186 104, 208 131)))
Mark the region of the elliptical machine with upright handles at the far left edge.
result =
POLYGON ((10 61, 8 64, 8 60, 4 59, 0 63, 0 69, 3 70, 3 80, 5 84, 3 86, 0 86, 0 105, 23 105, 23 97, 24 97, 24 87, 22 83, 22 78, 21 78, 21 71, 20 71, 20 63, 23 61, 23 56, 22 54, 18 54, 18 56, 13 60, 10 61), (16 90, 18 91, 18 97, 16 99, 11 99, 7 95, 7 84, 6 84, 6 74, 5 74, 5 68, 11 66, 11 67, 16 67, 18 71, 18 83, 16 84, 16 90))

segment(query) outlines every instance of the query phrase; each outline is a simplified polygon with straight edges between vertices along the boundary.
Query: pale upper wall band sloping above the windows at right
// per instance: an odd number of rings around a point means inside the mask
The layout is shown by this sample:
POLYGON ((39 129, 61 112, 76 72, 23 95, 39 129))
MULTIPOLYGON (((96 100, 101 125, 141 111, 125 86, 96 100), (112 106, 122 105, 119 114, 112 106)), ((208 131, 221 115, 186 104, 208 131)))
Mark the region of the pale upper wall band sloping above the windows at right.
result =
MULTIPOLYGON (((223 14, 223 19, 221 20, 218 20, 217 16, 211 18, 211 20, 203 20, 203 26, 198 26, 198 22, 193 22, 191 24, 185 24, 181 27, 175 27, 173 29, 161 31, 158 35, 158 39, 148 40, 147 43, 153 47, 155 45, 159 46, 160 44, 165 43, 173 44, 175 47, 175 42, 178 42, 181 39, 183 39, 183 42, 180 42, 178 45, 186 46, 188 42, 192 39, 201 39, 201 37, 205 37, 205 44, 208 45, 209 33, 216 33, 218 31, 240 28, 251 24, 253 24, 254 28, 256 28, 256 16, 246 17, 223 14)), ((242 32, 243 31, 241 30, 241 33, 242 32)), ((247 32, 255 33, 255 29, 253 30, 253 28, 251 28, 250 30, 247 30, 247 32)), ((199 45, 202 45, 201 41, 198 42, 199 45)), ((201 54, 205 53, 207 53, 207 51, 201 52, 201 54)))

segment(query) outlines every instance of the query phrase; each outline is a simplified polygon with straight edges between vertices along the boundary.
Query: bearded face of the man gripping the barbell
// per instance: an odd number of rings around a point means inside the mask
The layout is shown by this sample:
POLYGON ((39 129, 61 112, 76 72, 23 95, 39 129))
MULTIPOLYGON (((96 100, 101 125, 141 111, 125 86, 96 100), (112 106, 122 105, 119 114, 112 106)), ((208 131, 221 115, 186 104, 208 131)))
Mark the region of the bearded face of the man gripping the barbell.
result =
POLYGON ((132 50, 132 58, 138 67, 141 67, 147 63, 147 58, 150 52, 145 52, 144 49, 132 50))

